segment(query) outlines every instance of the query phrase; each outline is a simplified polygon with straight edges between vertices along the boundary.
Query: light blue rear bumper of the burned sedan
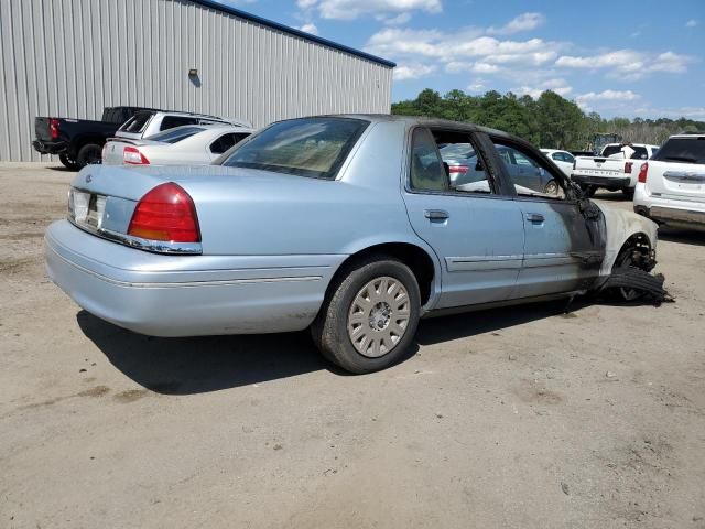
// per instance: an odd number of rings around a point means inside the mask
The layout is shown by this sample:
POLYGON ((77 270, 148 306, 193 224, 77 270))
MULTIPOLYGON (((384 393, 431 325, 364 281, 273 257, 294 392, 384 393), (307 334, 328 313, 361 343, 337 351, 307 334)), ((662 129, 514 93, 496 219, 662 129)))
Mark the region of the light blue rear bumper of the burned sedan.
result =
POLYGON ((347 257, 164 256, 66 220, 47 228, 44 249, 48 277, 79 306, 154 336, 301 331, 347 257))

